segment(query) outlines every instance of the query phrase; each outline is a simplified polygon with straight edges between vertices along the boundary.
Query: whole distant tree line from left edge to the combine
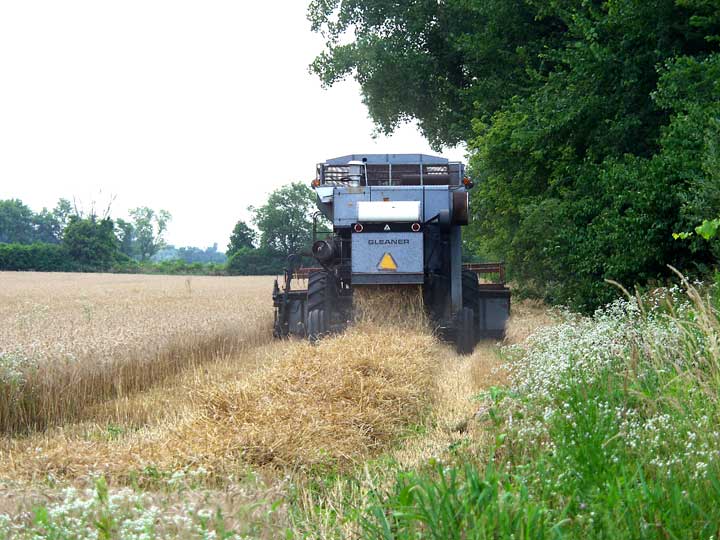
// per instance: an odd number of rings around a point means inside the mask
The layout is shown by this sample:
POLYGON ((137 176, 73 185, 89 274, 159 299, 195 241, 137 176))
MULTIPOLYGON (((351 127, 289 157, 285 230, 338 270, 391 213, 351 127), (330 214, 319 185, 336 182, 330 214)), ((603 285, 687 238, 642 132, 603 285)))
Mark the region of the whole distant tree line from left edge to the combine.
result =
POLYGON ((315 196, 302 184, 283 186, 235 225, 227 253, 218 245, 175 247, 164 240, 171 215, 138 207, 129 220, 109 210, 87 215, 66 199, 33 212, 18 199, 0 201, 0 270, 112 271, 167 274, 281 274, 290 254, 307 252, 315 196))

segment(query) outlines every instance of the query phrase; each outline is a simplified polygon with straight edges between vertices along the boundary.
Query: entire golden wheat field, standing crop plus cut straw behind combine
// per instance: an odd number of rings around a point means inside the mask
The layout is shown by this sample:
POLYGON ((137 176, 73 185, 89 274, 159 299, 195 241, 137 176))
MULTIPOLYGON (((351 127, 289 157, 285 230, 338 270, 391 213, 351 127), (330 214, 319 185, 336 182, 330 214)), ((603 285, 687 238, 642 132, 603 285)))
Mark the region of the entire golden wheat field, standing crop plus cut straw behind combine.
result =
MULTIPOLYGON (((272 340, 271 290, 269 277, 0 273, 0 518, 100 475, 143 497, 170 489, 172 515, 203 498, 250 519, 246 506, 292 494, 321 519, 302 487, 315 475, 441 455, 466 436, 473 396, 504 379, 495 344, 458 357, 432 335, 418 290, 358 295, 356 324, 318 345, 272 340)), ((546 323, 521 305, 509 336, 546 323)), ((273 512, 260 536, 293 521, 273 512)))

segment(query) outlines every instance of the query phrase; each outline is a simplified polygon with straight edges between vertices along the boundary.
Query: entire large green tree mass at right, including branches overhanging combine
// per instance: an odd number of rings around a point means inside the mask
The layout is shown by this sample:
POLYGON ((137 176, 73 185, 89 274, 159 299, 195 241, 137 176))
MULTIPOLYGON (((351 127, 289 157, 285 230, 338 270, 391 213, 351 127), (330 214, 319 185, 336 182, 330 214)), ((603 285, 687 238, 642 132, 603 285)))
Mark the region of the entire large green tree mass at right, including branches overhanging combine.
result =
POLYGON ((521 287, 592 310, 712 246, 720 213, 720 4, 711 0, 316 0, 312 69, 359 83, 381 131, 467 142, 466 236, 521 287))

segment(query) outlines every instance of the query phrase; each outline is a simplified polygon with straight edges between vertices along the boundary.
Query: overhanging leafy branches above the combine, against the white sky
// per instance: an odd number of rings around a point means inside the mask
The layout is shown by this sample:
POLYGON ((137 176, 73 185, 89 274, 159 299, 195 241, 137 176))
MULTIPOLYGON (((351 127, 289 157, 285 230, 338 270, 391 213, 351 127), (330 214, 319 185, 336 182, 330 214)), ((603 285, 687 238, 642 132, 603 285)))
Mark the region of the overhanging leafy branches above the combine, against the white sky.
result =
POLYGON ((526 95, 562 31, 524 0, 316 0, 308 18, 327 41, 312 64, 322 82, 353 76, 380 131, 415 118, 435 147, 466 141, 476 114, 526 95))

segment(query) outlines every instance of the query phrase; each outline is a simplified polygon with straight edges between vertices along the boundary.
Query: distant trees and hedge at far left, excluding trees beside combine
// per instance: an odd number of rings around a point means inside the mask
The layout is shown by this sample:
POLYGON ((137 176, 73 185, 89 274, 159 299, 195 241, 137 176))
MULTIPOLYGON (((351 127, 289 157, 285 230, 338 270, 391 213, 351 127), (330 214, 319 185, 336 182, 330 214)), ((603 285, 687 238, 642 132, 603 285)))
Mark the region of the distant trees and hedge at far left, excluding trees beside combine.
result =
POLYGON ((217 244, 205 250, 170 247, 176 260, 154 259, 167 249, 164 234, 170 219, 169 212, 148 207, 133 208, 126 221, 111 219, 109 208, 102 216, 94 209, 85 213, 67 199, 37 213, 19 199, 0 200, 0 270, 224 271, 226 258, 217 244))

